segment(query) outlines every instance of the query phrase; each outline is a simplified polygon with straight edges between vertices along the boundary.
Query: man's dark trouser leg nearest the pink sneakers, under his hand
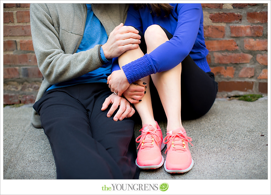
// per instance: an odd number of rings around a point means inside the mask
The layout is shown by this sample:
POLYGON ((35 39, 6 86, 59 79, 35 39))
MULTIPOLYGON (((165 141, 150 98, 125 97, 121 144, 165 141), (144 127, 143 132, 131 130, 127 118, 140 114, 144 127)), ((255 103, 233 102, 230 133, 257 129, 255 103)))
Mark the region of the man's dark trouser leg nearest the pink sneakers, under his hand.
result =
MULTIPOLYGON (((93 89, 93 103, 89 99, 80 99, 86 109, 89 110, 89 123, 92 137, 98 141, 111 157, 115 160, 120 174, 124 179, 138 179, 139 168, 136 161, 136 143, 134 138, 134 121, 131 118, 124 118, 122 121, 114 121, 113 115, 108 118, 107 112, 101 111, 104 100, 112 94, 106 83, 89 84, 93 89)), ((82 85, 81 91, 87 92, 89 85, 82 85)), ((87 95, 85 95, 87 97, 87 95)))

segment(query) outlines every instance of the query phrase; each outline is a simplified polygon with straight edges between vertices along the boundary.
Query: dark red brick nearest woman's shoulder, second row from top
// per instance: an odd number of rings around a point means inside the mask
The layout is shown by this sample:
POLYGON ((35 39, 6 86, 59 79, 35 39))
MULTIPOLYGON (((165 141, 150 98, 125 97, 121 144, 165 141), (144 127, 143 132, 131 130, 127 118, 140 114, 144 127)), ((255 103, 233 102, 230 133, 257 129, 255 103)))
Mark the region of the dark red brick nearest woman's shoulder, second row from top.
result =
POLYGON ((242 15, 235 14, 235 13, 215 13, 210 14, 209 18, 212 20, 212 22, 241 22, 242 21, 242 15))

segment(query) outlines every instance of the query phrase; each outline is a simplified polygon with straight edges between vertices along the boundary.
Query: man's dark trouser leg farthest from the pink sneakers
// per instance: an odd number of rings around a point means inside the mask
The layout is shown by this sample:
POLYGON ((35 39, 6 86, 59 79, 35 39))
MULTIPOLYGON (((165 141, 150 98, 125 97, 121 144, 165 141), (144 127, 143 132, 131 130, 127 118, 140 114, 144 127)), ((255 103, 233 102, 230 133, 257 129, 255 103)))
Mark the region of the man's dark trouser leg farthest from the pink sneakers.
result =
MULTIPOLYGON (((79 94, 75 86, 67 88, 79 94)), ((33 107, 41 115, 58 179, 123 179, 118 164, 92 137, 87 110, 69 90, 50 90, 33 107)))

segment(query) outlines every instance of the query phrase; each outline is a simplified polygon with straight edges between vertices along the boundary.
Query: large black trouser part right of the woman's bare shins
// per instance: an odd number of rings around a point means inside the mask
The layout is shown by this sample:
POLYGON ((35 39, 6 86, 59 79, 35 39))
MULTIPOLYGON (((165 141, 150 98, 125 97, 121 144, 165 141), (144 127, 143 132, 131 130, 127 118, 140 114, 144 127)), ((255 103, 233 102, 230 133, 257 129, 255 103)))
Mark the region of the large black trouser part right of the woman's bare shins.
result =
POLYGON ((215 101, 217 89, 213 73, 205 73, 189 55, 184 58, 181 72, 182 119, 196 119, 206 114, 215 101))

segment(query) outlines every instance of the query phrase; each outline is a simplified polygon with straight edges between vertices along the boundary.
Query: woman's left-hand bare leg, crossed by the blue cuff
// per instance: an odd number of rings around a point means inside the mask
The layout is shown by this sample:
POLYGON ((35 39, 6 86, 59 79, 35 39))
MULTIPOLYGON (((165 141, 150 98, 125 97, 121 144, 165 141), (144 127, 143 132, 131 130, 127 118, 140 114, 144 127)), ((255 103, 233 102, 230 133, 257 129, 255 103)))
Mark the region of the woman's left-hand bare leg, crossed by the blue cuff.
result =
MULTIPOLYGON (((144 56, 144 54, 140 50, 140 48, 134 50, 127 50, 121 56, 119 56, 119 66, 122 67, 127 63, 130 63, 138 58, 141 58, 142 56, 144 56)), ((137 104, 134 104, 134 106, 140 115, 142 126, 144 124, 149 124, 152 125, 154 128, 157 128, 156 122, 153 117, 150 88, 148 87, 150 83, 150 76, 144 77, 141 80, 147 83, 146 94, 142 98, 142 101, 140 101, 137 104)))

